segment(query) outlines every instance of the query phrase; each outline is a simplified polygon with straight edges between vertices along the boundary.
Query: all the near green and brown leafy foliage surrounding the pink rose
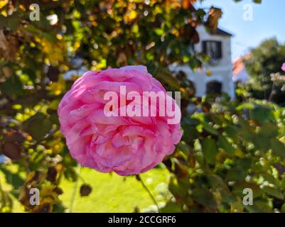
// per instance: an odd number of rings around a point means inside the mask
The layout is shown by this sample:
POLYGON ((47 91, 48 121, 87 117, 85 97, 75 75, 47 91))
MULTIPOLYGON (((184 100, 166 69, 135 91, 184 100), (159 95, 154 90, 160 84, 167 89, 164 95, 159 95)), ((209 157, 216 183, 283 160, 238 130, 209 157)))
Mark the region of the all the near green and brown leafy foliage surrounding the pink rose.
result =
MULTIPOLYGON (((0 184, 0 211, 13 210, 12 197, 26 211, 65 211, 60 182, 80 176, 59 132, 58 103, 86 70, 138 64, 182 92, 183 139, 163 161, 173 196, 161 211, 285 210, 284 109, 247 99, 243 89, 242 103, 197 98, 183 72, 168 70, 173 63, 195 70, 208 59, 193 51, 195 28, 205 21, 215 29, 220 9, 195 9, 195 0, 0 2, 0 153, 11 159, 0 171, 12 188, 0 184), (40 21, 29 20, 33 3, 40 21), (39 206, 29 203, 32 187, 41 192, 39 206), (244 188, 254 191, 253 206, 242 204, 244 188)), ((84 182, 81 196, 90 193, 84 182)))

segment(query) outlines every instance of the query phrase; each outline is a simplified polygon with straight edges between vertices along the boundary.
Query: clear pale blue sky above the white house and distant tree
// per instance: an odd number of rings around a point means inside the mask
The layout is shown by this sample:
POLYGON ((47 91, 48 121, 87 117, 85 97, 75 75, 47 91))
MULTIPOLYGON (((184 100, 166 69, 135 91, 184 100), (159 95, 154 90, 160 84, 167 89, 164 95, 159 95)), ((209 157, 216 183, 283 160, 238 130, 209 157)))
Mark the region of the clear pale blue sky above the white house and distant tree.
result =
POLYGON ((234 35, 232 38, 232 60, 244 55, 267 38, 276 37, 285 42, 285 0, 262 0, 254 4, 251 0, 236 3, 234 0, 204 0, 198 4, 203 8, 220 7, 223 11, 219 27, 234 35), (252 21, 244 21, 244 4, 252 4, 252 21))

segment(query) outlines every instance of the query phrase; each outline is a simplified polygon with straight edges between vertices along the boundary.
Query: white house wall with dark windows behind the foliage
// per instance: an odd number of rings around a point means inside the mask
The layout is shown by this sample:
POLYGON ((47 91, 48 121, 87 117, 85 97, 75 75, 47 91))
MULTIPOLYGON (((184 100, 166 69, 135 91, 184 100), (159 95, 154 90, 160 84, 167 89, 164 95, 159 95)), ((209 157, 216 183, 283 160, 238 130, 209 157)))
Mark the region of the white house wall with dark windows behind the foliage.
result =
POLYGON ((196 96, 204 96, 214 90, 215 93, 225 92, 233 99, 235 85, 232 80, 232 35, 219 28, 215 33, 210 33, 203 25, 198 26, 197 31, 200 42, 194 45, 194 51, 208 54, 210 56, 209 63, 195 72, 188 65, 172 65, 170 70, 185 72, 188 79, 195 85, 196 96))

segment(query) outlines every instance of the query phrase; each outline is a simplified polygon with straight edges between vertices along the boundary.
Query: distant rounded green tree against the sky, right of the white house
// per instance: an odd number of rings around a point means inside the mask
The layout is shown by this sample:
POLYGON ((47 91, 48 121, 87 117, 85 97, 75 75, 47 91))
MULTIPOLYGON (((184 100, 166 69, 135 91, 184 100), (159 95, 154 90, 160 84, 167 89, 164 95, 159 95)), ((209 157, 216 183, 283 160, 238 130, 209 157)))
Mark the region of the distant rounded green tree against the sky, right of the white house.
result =
POLYGON ((277 104, 285 105, 285 91, 281 89, 283 83, 274 83, 272 73, 284 72, 281 65, 285 59, 285 44, 276 38, 264 40, 257 48, 249 53, 245 66, 251 79, 247 83, 247 90, 256 99, 267 99, 277 104))

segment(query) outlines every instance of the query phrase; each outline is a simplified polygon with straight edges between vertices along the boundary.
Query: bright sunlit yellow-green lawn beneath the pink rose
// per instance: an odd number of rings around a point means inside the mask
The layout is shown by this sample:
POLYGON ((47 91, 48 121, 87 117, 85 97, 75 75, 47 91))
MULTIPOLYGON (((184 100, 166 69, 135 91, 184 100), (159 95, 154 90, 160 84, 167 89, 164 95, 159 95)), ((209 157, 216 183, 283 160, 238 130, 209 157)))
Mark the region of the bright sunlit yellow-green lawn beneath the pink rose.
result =
MULTIPOLYGON (((9 174, 1 172, 0 180, 4 190, 11 190, 11 185, 6 184, 6 181, 16 181, 17 178, 9 174), (7 178, 8 176, 8 178, 7 178), (13 179, 9 179, 14 177, 13 179)), ((80 185, 83 183, 82 179, 78 182, 68 182, 66 179, 60 183, 63 189, 63 194, 60 199, 68 209, 72 212, 133 212, 135 208, 139 211, 156 211, 156 206, 151 200, 151 197, 142 186, 141 182, 136 180, 135 177, 121 177, 114 173, 100 173, 89 168, 81 168, 80 176, 87 184, 92 186, 92 192, 89 196, 80 196, 80 185), (76 190, 76 191, 75 191, 76 190), (75 194, 74 194, 75 192, 75 194), (72 196, 74 201, 72 201, 72 196), (72 205, 71 205, 72 204, 72 205)), ((169 174, 166 169, 161 167, 155 168, 141 175, 144 183, 154 195, 156 201, 160 206, 166 201, 166 197, 170 196, 167 184, 169 174)), ((20 180, 19 185, 20 185, 20 180)), ((14 199, 14 212, 23 212, 23 208, 14 199)))

